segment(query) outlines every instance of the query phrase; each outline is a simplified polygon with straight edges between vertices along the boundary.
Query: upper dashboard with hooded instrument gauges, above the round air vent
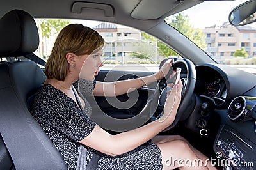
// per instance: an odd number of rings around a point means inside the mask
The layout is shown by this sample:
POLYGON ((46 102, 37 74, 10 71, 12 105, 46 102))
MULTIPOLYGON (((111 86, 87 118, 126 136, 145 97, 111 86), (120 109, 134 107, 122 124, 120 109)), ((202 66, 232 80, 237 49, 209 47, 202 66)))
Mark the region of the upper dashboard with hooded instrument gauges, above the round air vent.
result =
POLYGON ((214 103, 216 108, 228 107, 237 96, 256 85, 255 75, 227 65, 196 66, 195 93, 214 103))

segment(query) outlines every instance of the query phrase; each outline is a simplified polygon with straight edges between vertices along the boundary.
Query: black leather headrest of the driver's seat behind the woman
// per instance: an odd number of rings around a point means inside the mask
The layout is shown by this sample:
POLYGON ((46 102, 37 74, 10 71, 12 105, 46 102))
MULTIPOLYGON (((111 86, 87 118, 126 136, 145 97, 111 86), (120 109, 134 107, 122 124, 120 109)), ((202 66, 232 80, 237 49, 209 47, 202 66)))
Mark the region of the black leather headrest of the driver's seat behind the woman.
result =
POLYGON ((0 19, 0 57, 24 56, 39 45, 33 17, 22 10, 12 10, 0 19))

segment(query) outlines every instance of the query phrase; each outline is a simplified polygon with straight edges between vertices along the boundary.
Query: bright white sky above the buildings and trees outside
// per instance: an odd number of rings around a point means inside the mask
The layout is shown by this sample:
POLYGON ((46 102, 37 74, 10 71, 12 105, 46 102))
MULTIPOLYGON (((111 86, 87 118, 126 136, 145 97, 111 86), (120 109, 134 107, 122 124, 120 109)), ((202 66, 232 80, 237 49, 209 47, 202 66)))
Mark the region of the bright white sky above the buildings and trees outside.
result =
MULTIPOLYGON (((246 1, 247 0, 221 2, 205 1, 204 3, 193 6, 182 13, 189 15, 191 24, 196 28, 205 28, 214 24, 216 24, 216 26, 221 26, 224 22, 228 21, 230 11, 246 1)), ((88 27, 94 27, 101 23, 90 20, 77 20, 77 22, 88 27)), ((256 27, 256 22, 249 24, 248 26, 256 27)))

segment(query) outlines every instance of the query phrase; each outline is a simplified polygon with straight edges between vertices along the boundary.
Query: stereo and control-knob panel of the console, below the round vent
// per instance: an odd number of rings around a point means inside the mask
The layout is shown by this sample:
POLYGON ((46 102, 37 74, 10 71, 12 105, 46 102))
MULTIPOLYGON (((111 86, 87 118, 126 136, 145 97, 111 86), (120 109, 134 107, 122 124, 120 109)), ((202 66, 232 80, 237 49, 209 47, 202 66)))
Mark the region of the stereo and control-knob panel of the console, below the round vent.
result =
MULTIPOLYGON (((253 134, 255 135, 255 134, 253 134)), ((214 144, 216 157, 221 159, 223 169, 253 169, 256 166, 256 141, 225 125, 214 144)))

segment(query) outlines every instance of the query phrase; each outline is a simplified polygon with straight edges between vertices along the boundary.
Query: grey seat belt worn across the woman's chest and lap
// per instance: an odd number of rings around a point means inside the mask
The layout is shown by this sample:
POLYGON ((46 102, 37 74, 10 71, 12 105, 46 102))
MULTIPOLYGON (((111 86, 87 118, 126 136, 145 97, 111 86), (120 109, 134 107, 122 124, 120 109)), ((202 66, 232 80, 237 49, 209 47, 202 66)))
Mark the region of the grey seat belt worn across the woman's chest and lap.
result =
MULTIPOLYGON (((75 97, 76 97, 76 101, 81 109, 81 111, 83 112, 83 114, 86 114, 84 112, 84 109, 83 109, 83 106, 79 100, 79 97, 77 95, 77 92, 76 92, 76 89, 74 88, 74 86, 72 85, 72 90, 75 94, 75 97)), ((82 148, 80 148, 80 151, 79 151, 79 155, 81 158, 78 158, 78 161, 82 161, 82 162, 79 162, 78 163, 78 166, 77 167, 79 170, 81 169, 88 169, 88 170, 93 170, 93 169, 96 169, 96 167, 98 166, 98 161, 100 159, 100 155, 97 155, 96 153, 93 153, 92 155, 92 158, 90 159, 90 161, 88 162, 87 166, 84 164, 83 161, 86 161, 86 155, 87 155, 87 149, 84 147, 84 146, 80 146, 80 147, 83 147, 83 150, 81 150, 82 148)))

